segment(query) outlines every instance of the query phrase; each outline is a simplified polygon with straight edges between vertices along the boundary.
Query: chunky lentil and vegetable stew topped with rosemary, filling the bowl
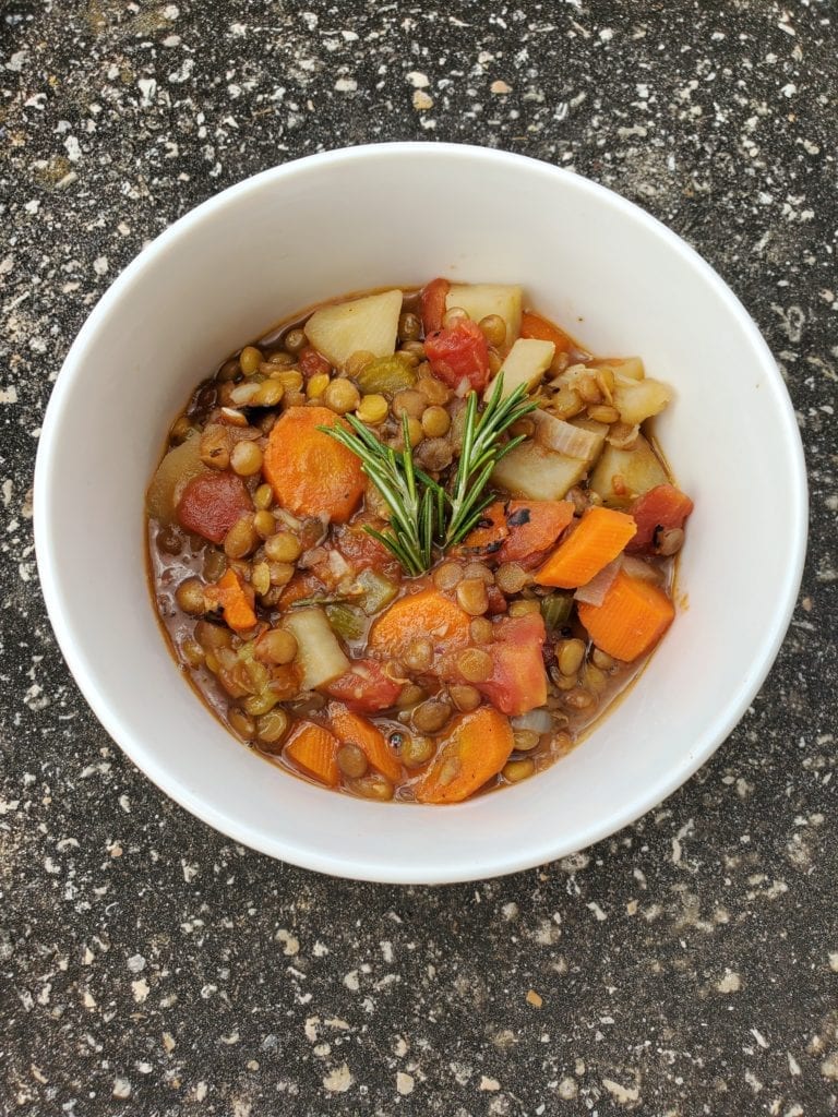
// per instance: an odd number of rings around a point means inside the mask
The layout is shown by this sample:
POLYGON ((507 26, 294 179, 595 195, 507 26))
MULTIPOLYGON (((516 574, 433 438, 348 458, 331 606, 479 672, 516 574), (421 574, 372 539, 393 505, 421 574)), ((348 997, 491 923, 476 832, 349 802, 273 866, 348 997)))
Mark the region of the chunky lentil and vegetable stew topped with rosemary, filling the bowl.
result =
POLYGON ((693 505, 649 431, 670 395, 517 286, 284 323, 198 384, 147 490, 178 662, 326 787, 454 803, 533 775, 674 619, 693 505))

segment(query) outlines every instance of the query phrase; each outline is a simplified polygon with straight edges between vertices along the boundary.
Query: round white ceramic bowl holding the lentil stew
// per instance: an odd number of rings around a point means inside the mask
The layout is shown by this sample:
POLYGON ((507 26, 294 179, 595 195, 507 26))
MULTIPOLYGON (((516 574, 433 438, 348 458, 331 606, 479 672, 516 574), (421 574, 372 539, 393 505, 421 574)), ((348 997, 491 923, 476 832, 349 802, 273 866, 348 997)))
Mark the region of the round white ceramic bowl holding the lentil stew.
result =
POLYGON ((771 354, 687 245, 543 163, 445 144, 315 155, 200 206, 123 271, 73 345, 36 469, 38 565, 85 697, 187 810, 272 857, 446 882, 525 869, 631 822, 734 727, 777 655, 806 547, 803 458, 771 354), (382 805, 241 747, 173 662, 146 584, 143 494, 163 433, 230 350, 312 303, 446 275, 522 283, 600 353, 676 390, 659 423, 695 499, 679 615, 615 713, 550 771, 449 808, 382 805))

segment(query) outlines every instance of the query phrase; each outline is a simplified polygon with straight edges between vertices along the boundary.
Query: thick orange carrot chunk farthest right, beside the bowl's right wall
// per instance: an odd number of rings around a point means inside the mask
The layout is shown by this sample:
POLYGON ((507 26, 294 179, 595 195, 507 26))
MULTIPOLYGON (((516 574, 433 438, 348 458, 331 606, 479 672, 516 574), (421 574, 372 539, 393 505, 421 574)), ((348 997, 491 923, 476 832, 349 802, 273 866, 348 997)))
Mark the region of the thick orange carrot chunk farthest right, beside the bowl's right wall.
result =
POLYGON ((620 571, 601 605, 580 603, 579 619, 591 640, 615 659, 645 656, 675 617, 669 598, 657 585, 620 571))

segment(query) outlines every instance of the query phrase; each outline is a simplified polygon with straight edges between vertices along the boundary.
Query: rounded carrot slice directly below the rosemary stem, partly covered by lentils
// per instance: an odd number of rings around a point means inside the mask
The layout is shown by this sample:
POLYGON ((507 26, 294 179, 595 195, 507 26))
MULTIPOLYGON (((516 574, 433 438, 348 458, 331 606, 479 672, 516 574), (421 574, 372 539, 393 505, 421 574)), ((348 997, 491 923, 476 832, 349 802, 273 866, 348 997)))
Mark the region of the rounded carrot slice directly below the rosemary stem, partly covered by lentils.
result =
POLYGON ((438 590, 421 590, 399 598, 370 629, 372 651, 398 659, 415 640, 431 640, 445 651, 469 642, 472 618, 438 590))

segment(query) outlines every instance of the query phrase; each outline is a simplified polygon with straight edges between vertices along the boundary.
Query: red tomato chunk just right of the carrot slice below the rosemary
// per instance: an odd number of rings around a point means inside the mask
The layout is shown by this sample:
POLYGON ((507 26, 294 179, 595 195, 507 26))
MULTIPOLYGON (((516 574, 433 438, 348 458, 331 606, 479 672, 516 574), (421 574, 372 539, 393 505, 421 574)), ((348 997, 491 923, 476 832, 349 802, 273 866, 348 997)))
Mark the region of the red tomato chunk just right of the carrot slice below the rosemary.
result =
POLYGON ((503 714, 526 714, 547 700, 547 678, 541 649, 546 636, 541 613, 510 617, 495 626, 491 646, 494 666, 475 686, 503 714))

